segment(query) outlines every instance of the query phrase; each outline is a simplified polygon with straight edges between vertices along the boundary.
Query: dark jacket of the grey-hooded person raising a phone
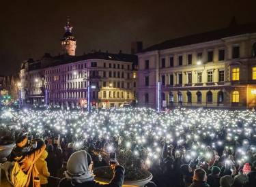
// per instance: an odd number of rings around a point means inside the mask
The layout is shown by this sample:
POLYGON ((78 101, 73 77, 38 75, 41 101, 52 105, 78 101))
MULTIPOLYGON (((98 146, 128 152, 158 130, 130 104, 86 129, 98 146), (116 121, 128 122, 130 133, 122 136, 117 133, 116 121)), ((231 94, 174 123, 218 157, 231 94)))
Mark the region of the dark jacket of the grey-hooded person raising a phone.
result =
POLYGON ((124 167, 122 166, 116 166, 114 169, 114 176, 113 179, 109 184, 100 184, 96 181, 88 181, 88 182, 83 182, 83 183, 76 183, 72 182, 74 186, 71 184, 70 181, 67 180, 67 178, 63 178, 61 182, 59 182, 59 187, 121 187, 122 184, 124 183, 124 167))

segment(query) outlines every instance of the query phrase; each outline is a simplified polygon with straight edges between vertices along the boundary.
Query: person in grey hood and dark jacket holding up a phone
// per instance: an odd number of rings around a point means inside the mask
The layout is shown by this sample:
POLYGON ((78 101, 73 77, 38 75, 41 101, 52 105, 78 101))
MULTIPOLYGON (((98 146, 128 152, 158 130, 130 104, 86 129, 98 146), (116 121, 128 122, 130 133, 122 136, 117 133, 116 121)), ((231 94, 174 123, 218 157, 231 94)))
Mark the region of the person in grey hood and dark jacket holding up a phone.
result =
POLYGON ((121 187, 124 183, 124 167, 118 162, 111 165, 114 168, 114 176, 109 184, 100 184, 94 180, 91 172, 91 156, 84 150, 74 152, 68 160, 66 177, 59 182, 59 187, 121 187))

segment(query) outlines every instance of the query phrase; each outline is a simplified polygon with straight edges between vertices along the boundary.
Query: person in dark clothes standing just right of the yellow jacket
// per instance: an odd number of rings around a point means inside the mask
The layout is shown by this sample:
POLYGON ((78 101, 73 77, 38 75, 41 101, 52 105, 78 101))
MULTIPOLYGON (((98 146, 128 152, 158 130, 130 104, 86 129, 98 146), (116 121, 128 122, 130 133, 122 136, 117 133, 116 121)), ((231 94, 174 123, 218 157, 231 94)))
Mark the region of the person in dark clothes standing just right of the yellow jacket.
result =
MULTIPOLYGON (((48 146, 48 156, 45 159, 48 167, 48 172, 50 176, 57 177, 57 158, 53 152, 53 145, 48 146)), ((56 186, 56 179, 53 177, 48 177, 47 186, 56 186)))

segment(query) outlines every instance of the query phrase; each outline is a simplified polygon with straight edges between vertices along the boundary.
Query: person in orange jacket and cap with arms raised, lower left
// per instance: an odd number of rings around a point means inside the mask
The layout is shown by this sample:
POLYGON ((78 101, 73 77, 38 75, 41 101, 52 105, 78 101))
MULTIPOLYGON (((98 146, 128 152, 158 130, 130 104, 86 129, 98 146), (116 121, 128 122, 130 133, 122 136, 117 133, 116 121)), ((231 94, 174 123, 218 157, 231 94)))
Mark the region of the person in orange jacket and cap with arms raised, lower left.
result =
POLYGON ((11 153, 10 161, 18 161, 20 169, 27 175, 29 175, 25 187, 40 187, 40 179, 38 177, 38 171, 35 167, 35 162, 40 158, 44 152, 46 146, 42 139, 38 139, 36 148, 31 148, 28 143, 27 136, 18 137, 16 140, 16 148, 14 153, 11 153))

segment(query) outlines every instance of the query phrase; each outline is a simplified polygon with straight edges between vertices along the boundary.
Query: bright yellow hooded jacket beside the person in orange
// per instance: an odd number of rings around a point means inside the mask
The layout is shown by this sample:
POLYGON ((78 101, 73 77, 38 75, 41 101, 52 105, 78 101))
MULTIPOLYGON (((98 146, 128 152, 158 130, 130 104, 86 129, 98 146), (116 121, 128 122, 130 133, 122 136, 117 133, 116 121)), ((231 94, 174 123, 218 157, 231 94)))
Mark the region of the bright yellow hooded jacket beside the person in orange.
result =
POLYGON ((50 176, 50 173, 48 172, 47 169, 47 163, 44 160, 47 157, 48 153, 46 152, 46 150, 44 150, 44 152, 41 154, 40 158, 38 158, 38 160, 36 160, 35 165, 36 168, 38 169, 38 176, 40 178, 40 184, 47 184, 47 178, 50 176))

